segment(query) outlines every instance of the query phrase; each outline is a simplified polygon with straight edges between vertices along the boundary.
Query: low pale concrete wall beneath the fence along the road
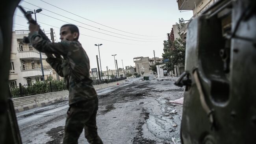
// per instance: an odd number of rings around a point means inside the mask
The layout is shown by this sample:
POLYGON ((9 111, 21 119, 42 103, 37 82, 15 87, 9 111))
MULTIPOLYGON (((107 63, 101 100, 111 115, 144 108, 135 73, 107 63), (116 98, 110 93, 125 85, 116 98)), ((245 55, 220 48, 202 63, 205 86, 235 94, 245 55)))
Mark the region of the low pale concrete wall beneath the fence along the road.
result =
MULTIPOLYGON (((94 85, 95 90, 101 90, 117 85, 117 83, 123 83, 125 80, 117 81, 108 84, 94 85)), ((39 106, 45 106, 46 104, 54 103, 56 101, 67 100, 69 97, 69 91, 63 90, 60 92, 51 92, 47 94, 31 95, 27 97, 18 97, 13 99, 13 105, 16 112, 22 112, 39 106)))

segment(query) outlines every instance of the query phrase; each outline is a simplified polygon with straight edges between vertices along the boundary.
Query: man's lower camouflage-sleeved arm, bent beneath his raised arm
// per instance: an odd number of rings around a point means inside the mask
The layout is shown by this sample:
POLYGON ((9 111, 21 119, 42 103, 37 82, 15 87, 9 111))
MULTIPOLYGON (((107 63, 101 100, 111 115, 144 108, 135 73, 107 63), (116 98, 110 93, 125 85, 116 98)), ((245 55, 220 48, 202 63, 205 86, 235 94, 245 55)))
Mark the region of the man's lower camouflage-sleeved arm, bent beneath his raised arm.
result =
POLYGON ((59 74, 59 76, 63 76, 61 64, 63 59, 62 58, 54 58, 54 57, 48 57, 46 61, 51 65, 51 67, 59 74))

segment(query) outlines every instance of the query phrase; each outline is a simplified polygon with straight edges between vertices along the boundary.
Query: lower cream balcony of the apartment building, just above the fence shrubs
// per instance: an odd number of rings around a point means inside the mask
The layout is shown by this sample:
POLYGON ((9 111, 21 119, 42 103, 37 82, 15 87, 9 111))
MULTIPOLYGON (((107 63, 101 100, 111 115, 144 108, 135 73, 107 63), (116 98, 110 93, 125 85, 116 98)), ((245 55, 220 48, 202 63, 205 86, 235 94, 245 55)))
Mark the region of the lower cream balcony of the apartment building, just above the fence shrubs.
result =
MULTIPOLYGON (((49 65, 43 65, 44 74, 51 74, 51 67, 49 65)), ((35 66, 21 66, 20 70, 22 72, 22 77, 32 77, 32 76, 42 76, 41 65, 35 66)))

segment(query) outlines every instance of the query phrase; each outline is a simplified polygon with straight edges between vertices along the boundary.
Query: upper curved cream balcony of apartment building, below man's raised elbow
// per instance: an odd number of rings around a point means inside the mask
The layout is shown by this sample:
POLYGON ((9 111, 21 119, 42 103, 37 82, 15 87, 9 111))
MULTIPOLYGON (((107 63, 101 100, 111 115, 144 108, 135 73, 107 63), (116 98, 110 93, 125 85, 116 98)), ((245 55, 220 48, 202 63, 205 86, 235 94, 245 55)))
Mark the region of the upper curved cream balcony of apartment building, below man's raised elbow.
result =
MULTIPOLYGON (((17 50, 19 52, 20 59, 31 59, 31 58, 35 60, 40 59, 39 51, 37 51, 33 47, 18 47, 17 50)), ((41 53, 41 56, 42 56, 42 59, 47 58, 45 53, 41 53)))

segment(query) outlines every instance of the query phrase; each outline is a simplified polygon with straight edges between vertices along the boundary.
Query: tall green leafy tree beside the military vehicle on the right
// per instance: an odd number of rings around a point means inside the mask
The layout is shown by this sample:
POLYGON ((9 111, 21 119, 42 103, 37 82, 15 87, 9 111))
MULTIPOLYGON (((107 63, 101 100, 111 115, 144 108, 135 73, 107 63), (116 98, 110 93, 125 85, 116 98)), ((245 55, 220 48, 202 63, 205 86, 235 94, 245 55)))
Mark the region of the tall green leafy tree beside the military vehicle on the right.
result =
POLYGON ((186 40, 182 35, 183 28, 186 27, 183 18, 179 18, 179 23, 177 24, 179 38, 176 38, 173 42, 163 41, 163 58, 169 59, 165 63, 163 68, 166 68, 168 72, 172 71, 176 65, 185 63, 185 52, 186 52, 186 40))

